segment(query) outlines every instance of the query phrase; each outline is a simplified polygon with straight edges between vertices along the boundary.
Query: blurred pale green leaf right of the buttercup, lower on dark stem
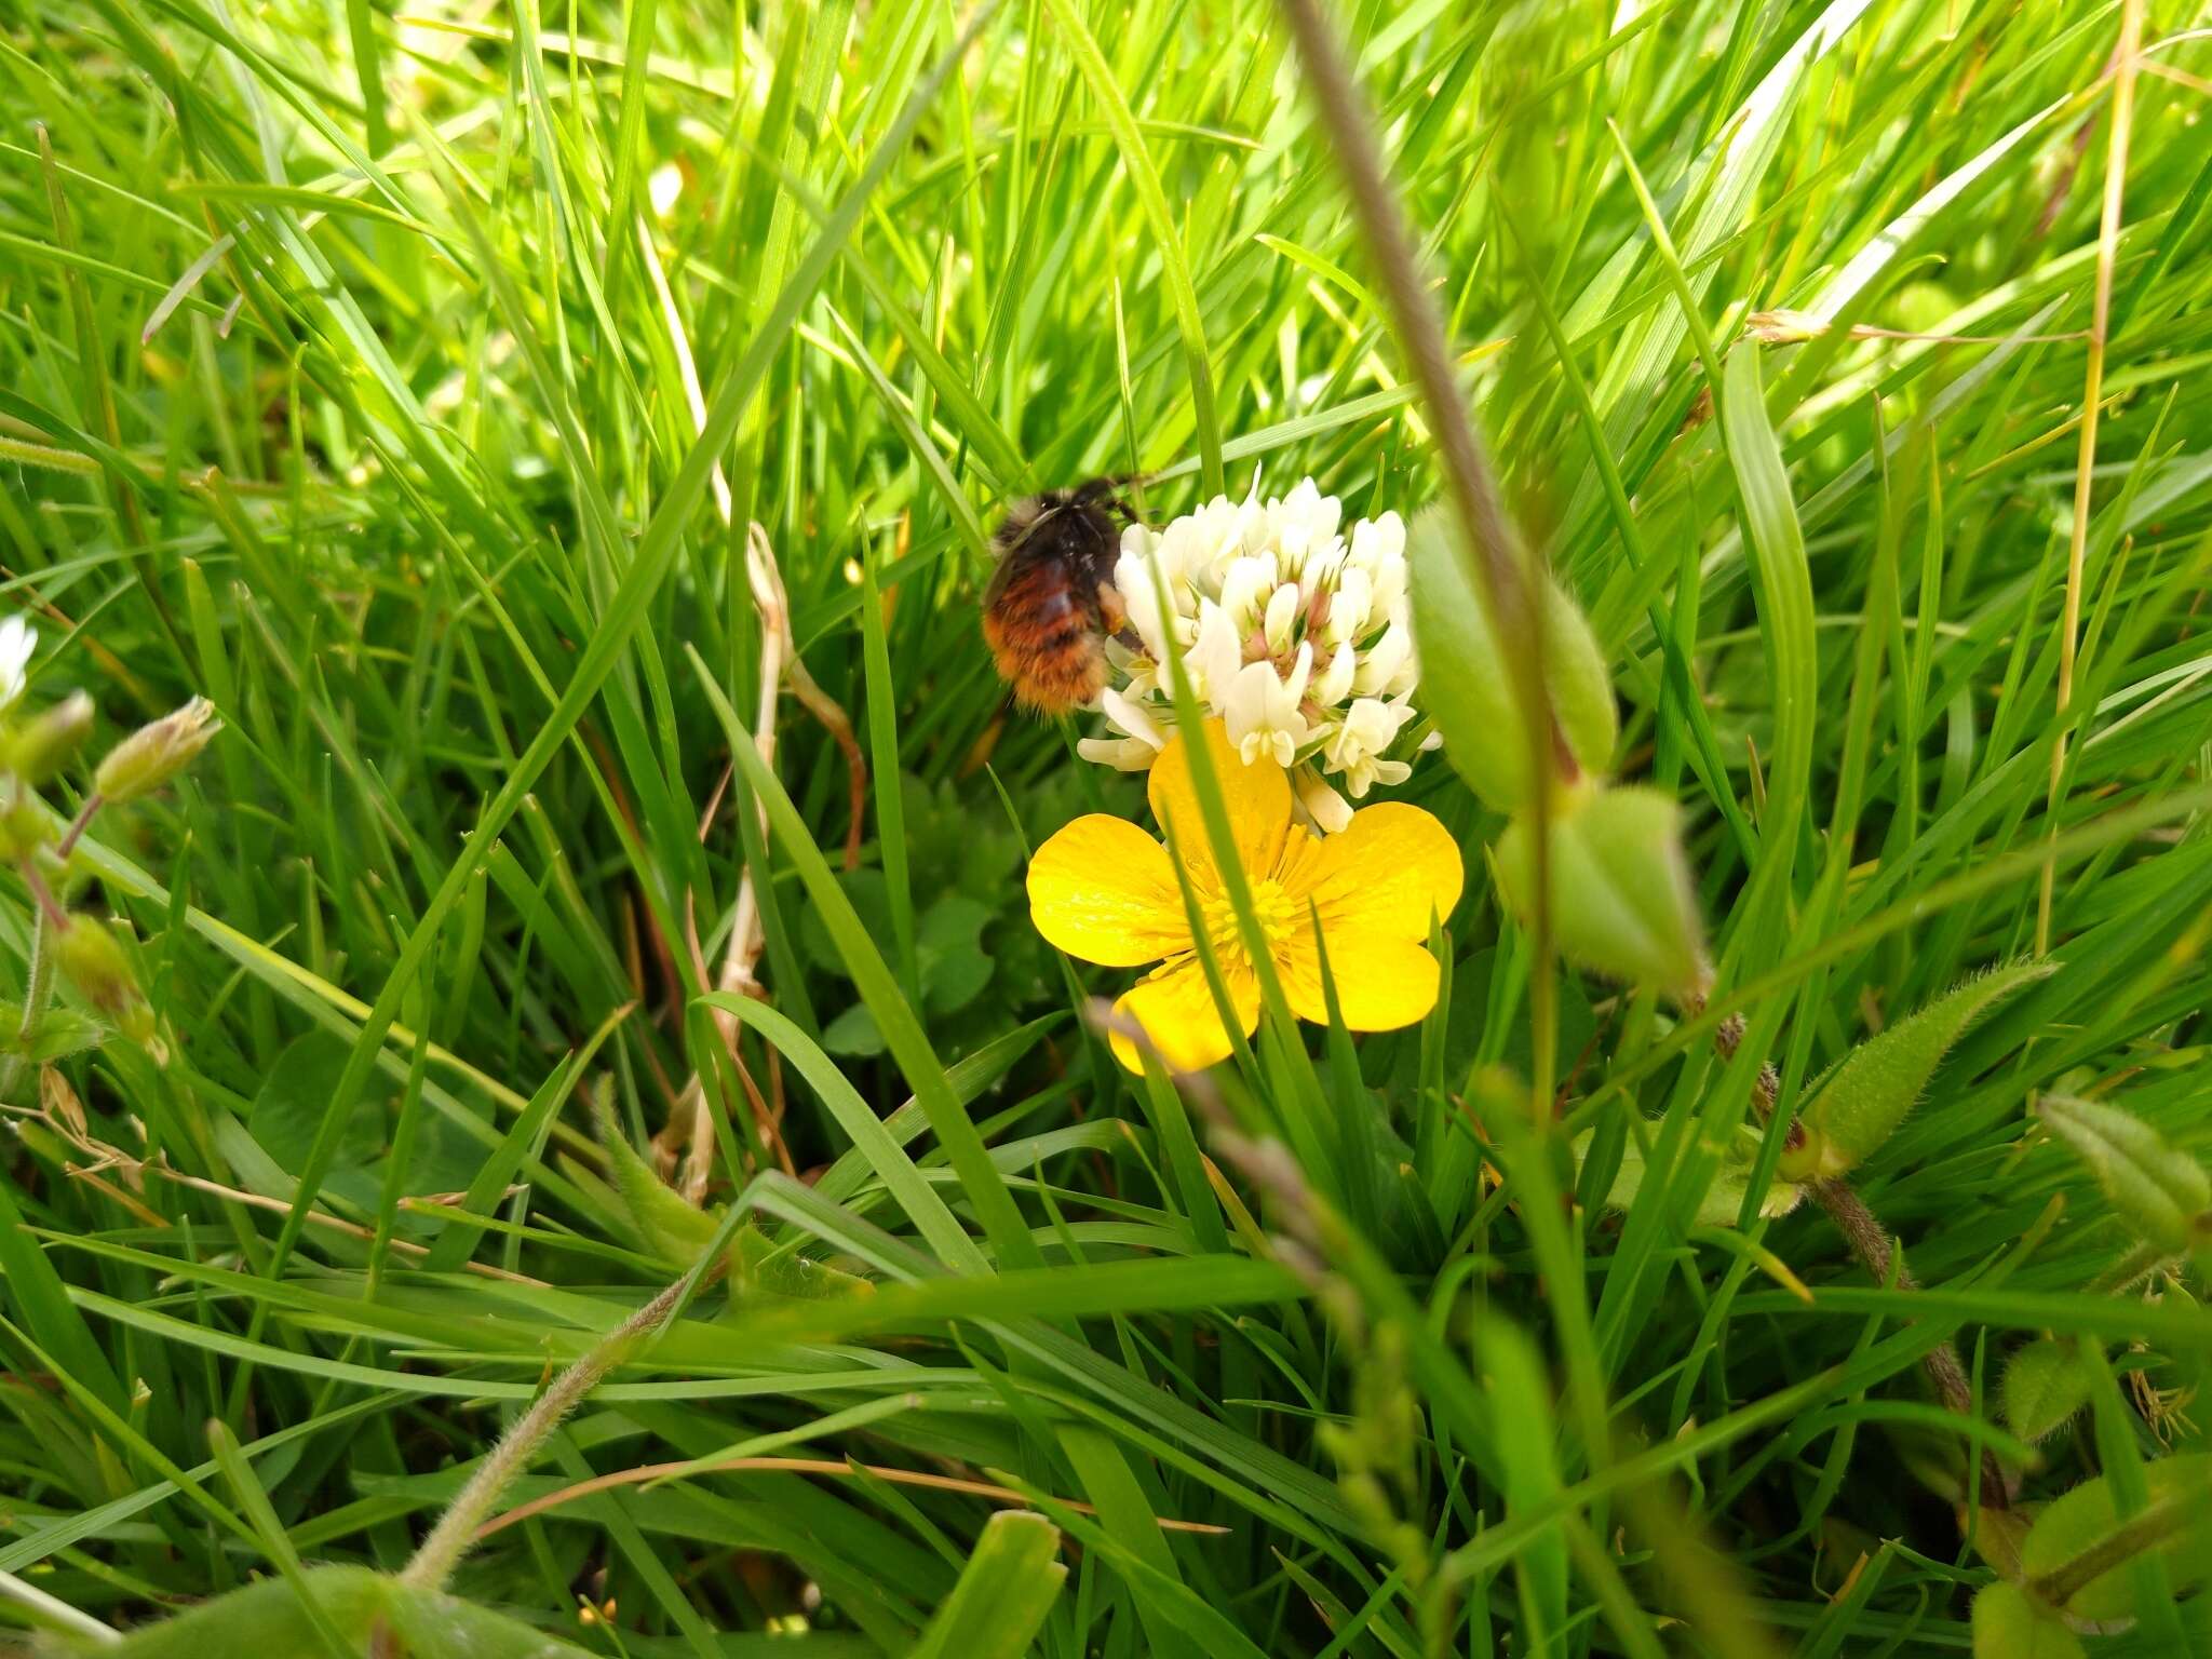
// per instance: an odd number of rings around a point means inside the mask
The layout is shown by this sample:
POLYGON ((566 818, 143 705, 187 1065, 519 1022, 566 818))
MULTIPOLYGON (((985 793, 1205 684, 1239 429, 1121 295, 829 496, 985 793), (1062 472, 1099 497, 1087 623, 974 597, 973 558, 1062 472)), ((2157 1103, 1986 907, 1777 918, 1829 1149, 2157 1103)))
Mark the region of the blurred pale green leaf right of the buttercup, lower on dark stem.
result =
MULTIPOLYGON (((1498 838, 1498 878, 1513 911, 1535 911, 1535 836, 1515 816, 1498 838)), ((1595 973, 1661 991, 1692 991, 1705 938, 1681 812, 1641 787, 1588 787, 1551 818, 1551 931, 1559 951, 1595 973)))

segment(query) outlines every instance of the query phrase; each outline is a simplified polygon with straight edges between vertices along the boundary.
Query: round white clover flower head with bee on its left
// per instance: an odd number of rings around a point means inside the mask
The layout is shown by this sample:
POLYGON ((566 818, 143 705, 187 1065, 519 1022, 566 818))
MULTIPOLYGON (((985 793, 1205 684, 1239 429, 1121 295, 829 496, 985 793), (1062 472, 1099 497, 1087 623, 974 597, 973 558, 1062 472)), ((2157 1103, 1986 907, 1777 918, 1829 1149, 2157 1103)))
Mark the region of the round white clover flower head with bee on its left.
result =
POLYGON ((1077 743, 1084 759, 1144 770, 1172 737, 1172 637, 1206 717, 1245 763, 1265 754, 1292 770, 1314 827, 1340 830, 1347 794, 1407 779, 1409 763, 1387 754, 1420 686, 1396 513, 1347 529, 1343 502, 1312 478, 1281 498, 1217 495, 1159 531, 1124 531, 1115 586, 1128 633, 1106 650, 1115 688, 1099 701, 1104 732, 1077 743))

